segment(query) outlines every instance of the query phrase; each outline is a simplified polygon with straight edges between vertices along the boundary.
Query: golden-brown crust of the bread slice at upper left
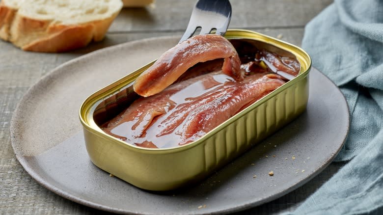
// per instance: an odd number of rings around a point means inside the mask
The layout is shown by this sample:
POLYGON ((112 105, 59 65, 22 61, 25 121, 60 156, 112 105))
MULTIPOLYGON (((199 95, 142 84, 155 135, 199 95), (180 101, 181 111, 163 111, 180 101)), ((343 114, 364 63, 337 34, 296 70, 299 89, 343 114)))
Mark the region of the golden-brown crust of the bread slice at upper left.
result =
POLYGON ((109 18, 82 24, 63 25, 18 13, 0 1, 0 38, 25 51, 66 52, 101 41, 120 10, 109 18))

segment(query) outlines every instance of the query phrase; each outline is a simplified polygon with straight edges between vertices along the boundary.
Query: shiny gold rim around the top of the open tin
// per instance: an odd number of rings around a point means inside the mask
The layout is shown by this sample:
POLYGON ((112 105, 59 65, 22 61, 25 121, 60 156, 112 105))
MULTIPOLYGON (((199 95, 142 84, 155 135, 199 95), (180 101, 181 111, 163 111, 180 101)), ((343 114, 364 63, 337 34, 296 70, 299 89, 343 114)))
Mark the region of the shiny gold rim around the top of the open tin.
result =
POLYGON ((82 123, 83 129, 86 129, 88 132, 91 132, 91 133, 97 135, 99 138, 101 137, 101 138, 104 138, 107 140, 111 140, 115 143, 123 145, 124 147, 129 147, 131 150, 134 150, 134 151, 137 151, 140 153, 145 153, 145 154, 167 154, 167 153, 174 153, 174 152, 188 150, 190 148, 193 148, 193 147, 200 145, 206 139, 208 139, 211 136, 213 136, 214 134, 218 133, 220 130, 222 130, 226 126, 234 123, 238 118, 246 115, 252 109, 257 108, 258 106, 262 105, 263 103, 268 101, 270 98, 279 94, 284 89, 287 89, 288 87, 292 86, 293 84, 295 84, 295 82, 298 82, 298 81, 304 79, 308 75, 308 73, 311 69, 311 57, 309 56, 309 54, 307 54, 304 50, 302 50, 298 46, 295 46, 293 44, 281 41, 281 40, 276 39, 274 37, 264 35, 264 34, 261 34, 261 33, 255 32, 255 31, 251 31, 251 30, 246 30, 246 29, 228 29, 226 32, 225 38, 227 38, 227 39, 253 39, 253 40, 255 39, 257 41, 265 42, 267 44, 273 45, 273 46, 280 48, 280 49, 283 49, 283 50, 286 50, 286 48, 289 48, 289 49, 287 49, 287 51, 294 54, 301 63, 300 74, 297 77, 295 77, 293 80, 284 83, 282 86, 278 87, 273 92, 267 94, 266 96, 264 96, 260 100, 254 102, 252 105, 246 107, 245 109, 241 110, 240 112, 238 112, 234 116, 230 117, 229 119, 227 119, 226 121, 221 123, 218 127, 212 129, 210 132, 201 136, 199 139, 197 139, 191 143, 182 145, 182 146, 174 146, 174 147, 169 147, 169 148, 145 148, 145 147, 136 146, 136 145, 127 143, 125 141, 122 141, 122 140, 120 140, 120 139, 118 139, 112 135, 104 133, 96 125, 96 123, 93 121, 93 117, 90 117, 91 119, 88 119, 87 115, 92 113, 92 108, 94 111, 96 104, 101 101, 100 100, 101 98, 105 98, 106 96, 112 95, 113 93, 121 90, 121 88, 127 86, 129 83, 133 82, 133 80, 135 80, 137 78, 137 76, 140 74, 138 71, 140 71, 140 70, 144 71, 147 68, 149 68, 155 62, 155 60, 154 60, 154 61, 144 65, 143 67, 133 71, 132 73, 126 75, 125 77, 122 77, 121 79, 109 84, 108 86, 106 86, 106 87, 92 93, 90 96, 88 96, 84 100, 84 102, 82 103, 82 105, 79 109, 79 118, 80 118, 80 121, 82 123), (302 65, 303 65, 303 67, 302 67, 302 65), (305 69, 302 70, 302 68, 305 68, 305 69))

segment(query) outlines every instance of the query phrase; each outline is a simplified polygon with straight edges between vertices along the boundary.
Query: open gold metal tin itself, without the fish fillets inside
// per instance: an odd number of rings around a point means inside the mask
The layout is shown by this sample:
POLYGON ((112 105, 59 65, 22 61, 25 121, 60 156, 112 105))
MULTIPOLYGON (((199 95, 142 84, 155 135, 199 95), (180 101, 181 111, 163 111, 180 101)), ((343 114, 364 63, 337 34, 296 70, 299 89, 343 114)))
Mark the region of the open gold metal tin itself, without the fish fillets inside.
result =
POLYGON ((151 149, 124 142, 104 133, 97 125, 137 99, 133 82, 151 62, 93 93, 83 102, 80 120, 90 160, 99 168, 138 188, 179 188, 207 177, 305 110, 311 68, 311 59, 306 52, 297 46, 249 30, 231 29, 225 37, 246 39, 257 48, 265 48, 281 56, 295 56, 301 64, 301 71, 293 80, 198 140, 173 148, 151 149))

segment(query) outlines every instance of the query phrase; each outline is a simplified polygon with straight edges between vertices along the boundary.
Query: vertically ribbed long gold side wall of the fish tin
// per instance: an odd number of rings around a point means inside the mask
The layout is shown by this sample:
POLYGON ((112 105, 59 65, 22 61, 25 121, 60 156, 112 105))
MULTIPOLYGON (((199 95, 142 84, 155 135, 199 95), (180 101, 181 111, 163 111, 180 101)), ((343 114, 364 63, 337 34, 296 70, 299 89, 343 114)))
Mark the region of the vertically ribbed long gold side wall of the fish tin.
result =
POLYGON ((308 100, 308 77, 280 91, 205 141, 205 171, 216 169, 244 153, 294 120, 308 100))

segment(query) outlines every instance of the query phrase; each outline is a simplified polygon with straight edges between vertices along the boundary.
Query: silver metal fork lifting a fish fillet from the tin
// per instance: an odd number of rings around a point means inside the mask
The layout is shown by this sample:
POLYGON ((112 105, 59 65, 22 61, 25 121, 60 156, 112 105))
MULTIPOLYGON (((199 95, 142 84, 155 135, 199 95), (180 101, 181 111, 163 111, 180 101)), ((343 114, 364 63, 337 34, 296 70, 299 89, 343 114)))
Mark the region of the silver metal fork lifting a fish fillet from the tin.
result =
POLYGON ((198 0, 193 7, 188 27, 179 43, 191 37, 197 28, 199 34, 214 32, 223 36, 231 19, 229 0, 198 0))

